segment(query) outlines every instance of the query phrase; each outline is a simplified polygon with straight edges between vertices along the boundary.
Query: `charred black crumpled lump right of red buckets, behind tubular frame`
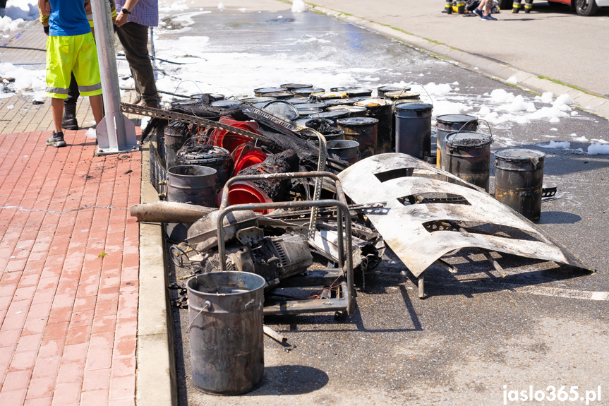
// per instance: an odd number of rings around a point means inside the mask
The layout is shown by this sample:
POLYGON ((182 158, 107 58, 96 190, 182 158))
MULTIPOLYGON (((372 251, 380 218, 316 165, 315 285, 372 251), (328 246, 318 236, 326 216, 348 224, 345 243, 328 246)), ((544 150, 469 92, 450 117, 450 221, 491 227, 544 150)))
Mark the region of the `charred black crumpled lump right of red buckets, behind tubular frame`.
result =
MULTIPOLYGON (((262 163, 252 165, 239 172, 239 175, 252 174, 277 174, 285 172, 298 172, 299 157, 294 150, 285 150, 282 153, 268 156, 262 163)), ((269 196, 272 201, 286 201, 289 189, 291 189, 290 179, 269 179, 251 181, 260 190, 269 196)))

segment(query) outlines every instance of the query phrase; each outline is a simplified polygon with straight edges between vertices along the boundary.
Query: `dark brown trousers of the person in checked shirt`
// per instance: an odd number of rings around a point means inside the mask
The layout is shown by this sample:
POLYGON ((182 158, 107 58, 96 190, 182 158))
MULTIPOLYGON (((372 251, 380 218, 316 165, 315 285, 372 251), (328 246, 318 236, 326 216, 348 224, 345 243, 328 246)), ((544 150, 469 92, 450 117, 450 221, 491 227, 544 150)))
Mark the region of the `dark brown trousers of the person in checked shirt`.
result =
POLYGON ((148 28, 137 23, 126 23, 116 29, 123 45, 131 75, 135 80, 135 91, 145 102, 157 102, 155 71, 148 56, 148 28))

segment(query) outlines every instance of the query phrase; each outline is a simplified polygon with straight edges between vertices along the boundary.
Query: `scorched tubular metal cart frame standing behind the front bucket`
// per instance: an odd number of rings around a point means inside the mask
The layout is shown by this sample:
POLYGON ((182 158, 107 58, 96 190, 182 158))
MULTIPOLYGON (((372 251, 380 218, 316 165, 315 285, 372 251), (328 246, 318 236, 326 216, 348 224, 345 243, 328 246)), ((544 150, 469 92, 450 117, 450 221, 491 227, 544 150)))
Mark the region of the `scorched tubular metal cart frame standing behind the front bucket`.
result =
POLYGON ((281 301, 272 306, 266 306, 265 314, 301 314, 301 313, 318 313, 325 311, 346 311, 349 316, 355 311, 355 288, 354 288, 354 272, 353 258, 351 249, 351 217, 349 215, 349 206, 346 203, 344 191, 341 181, 337 175, 330 172, 289 172, 283 174, 261 174, 261 175, 242 175, 232 177, 224 185, 222 193, 222 203, 220 204, 218 220, 217 220, 217 237, 218 237, 218 252, 222 261, 220 261, 220 270, 226 270, 226 247, 224 244, 224 217, 228 213, 239 210, 265 210, 277 208, 320 208, 320 207, 335 207, 339 211, 337 215, 337 228, 344 230, 344 234, 338 234, 338 245, 342 247, 339 250, 338 270, 310 270, 303 275, 289 277, 279 284, 278 287, 314 287, 314 286, 330 286, 332 282, 337 280, 337 277, 342 277, 340 283, 342 298, 334 299, 303 299, 281 301), (297 179, 297 178, 329 178, 334 181, 337 190, 336 199, 323 199, 315 201, 289 201, 289 202, 272 202, 272 203, 247 203, 229 206, 229 188, 236 181, 253 181, 265 179, 297 179), (344 224, 343 224, 344 222, 344 224), (346 255, 345 255, 346 253, 346 255), (344 277, 346 276, 346 280, 344 277))

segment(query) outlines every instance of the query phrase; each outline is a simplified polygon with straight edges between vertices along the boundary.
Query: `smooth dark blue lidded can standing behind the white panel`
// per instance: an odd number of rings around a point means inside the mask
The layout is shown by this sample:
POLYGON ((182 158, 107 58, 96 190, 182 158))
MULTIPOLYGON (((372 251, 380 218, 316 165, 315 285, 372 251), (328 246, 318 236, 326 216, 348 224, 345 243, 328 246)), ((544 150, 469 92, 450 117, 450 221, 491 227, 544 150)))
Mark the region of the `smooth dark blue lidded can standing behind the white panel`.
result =
POLYGON ((431 153, 431 111, 427 103, 395 106, 395 152, 422 160, 431 153))

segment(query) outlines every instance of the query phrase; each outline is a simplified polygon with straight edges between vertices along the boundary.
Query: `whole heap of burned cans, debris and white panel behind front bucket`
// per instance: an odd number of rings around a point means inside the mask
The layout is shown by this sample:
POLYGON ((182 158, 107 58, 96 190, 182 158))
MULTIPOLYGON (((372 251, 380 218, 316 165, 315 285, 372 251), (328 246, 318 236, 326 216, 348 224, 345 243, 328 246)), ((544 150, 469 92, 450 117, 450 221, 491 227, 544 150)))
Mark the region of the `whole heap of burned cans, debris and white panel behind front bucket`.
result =
POLYGON ((464 247, 499 272, 494 251, 589 269, 533 225, 553 193, 542 189, 542 153, 496 153, 492 196, 493 138, 476 117, 438 117, 432 150, 433 106, 408 87, 375 93, 286 84, 123 108, 153 117, 143 138, 165 200, 131 213, 166 222, 171 258, 193 275, 262 276, 264 314, 353 314, 354 285, 385 244, 421 298, 424 271, 457 272, 442 256, 464 247))

